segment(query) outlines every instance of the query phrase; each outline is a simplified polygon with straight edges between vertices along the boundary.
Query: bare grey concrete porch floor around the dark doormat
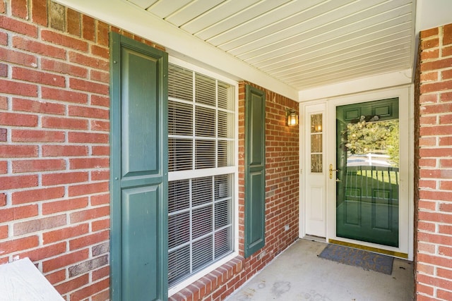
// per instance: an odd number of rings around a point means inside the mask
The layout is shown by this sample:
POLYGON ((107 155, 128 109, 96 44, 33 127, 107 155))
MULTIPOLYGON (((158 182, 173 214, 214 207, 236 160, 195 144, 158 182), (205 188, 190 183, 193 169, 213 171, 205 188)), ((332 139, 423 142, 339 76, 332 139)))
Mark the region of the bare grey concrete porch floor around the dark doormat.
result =
POLYGON ((227 301, 413 300, 412 262, 394 259, 393 273, 386 275, 317 257, 324 247, 297 240, 227 301))

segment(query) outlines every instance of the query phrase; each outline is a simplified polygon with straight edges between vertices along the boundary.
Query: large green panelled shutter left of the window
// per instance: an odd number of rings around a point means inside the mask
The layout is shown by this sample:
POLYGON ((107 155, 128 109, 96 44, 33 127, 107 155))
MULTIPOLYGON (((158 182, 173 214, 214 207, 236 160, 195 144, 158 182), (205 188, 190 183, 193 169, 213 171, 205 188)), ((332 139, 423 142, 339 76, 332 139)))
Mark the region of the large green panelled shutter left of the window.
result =
POLYGON ((111 299, 167 300, 167 54, 110 41, 111 299))

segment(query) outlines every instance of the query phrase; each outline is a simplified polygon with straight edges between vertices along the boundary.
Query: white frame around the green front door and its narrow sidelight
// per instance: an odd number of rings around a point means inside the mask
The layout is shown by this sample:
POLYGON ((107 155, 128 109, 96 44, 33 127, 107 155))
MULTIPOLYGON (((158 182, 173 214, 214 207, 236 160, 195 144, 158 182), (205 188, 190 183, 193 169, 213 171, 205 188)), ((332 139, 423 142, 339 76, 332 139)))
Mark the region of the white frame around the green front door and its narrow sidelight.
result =
MULTIPOLYGON (((375 90, 371 92, 357 93, 345 95, 342 97, 333 97, 330 99, 321 99, 312 102, 302 102, 299 104, 300 118, 304 121, 306 110, 305 106, 312 104, 326 103, 326 155, 323 161, 324 168, 329 164, 335 167, 335 107, 343 104, 353 104, 359 102, 371 102, 374 100, 388 99, 398 97, 399 99, 399 122, 400 122, 400 199, 405 199, 405 202, 400 202, 399 207, 399 247, 387 247, 376 245, 369 242, 358 242, 346 238, 338 238, 335 235, 335 181, 326 179, 326 241, 340 240, 341 242, 358 244, 366 247, 373 247, 376 249, 388 250, 395 254, 407 254, 407 258, 412 260, 413 257, 413 225, 414 225, 414 191, 413 191, 413 162, 414 162, 414 94, 412 85, 405 85, 401 87, 394 87, 384 90, 375 90), (331 130, 333 129, 333 130, 331 130), (404 135, 405 133, 405 135, 404 135), (408 134, 408 135, 407 135, 408 134), (406 155, 408 154, 408 156, 406 155)), ((309 166, 307 166, 307 154, 305 152, 307 139, 304 122, 300 122, 299 126, 299 161, 300 161, 300 191, 299 191, 299 237, 303 238, 306 233, 306 200, 305 191, 307 176, 309 173, 309 166)), ((333 168, 335 169, 335 168, 333 168)), ((326 175, 327 173, 325 173, 326 175)), ((327 175, 326 175, 327 176, 327 175)), ((396 255, 397 256, 397 255, 396 255)), ((405 256, 400 256, 405 257, 405 256)))

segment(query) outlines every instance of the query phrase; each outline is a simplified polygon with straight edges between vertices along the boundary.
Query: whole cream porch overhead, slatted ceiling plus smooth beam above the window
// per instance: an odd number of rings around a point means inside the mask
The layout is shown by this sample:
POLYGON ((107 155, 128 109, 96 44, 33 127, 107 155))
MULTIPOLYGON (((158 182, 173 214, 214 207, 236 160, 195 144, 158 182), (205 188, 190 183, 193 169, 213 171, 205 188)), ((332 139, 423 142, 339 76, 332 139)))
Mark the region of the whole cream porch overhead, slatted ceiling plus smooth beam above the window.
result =
POLYGON ((415 0, 57 1, 292 99, 414 62, 415 0))

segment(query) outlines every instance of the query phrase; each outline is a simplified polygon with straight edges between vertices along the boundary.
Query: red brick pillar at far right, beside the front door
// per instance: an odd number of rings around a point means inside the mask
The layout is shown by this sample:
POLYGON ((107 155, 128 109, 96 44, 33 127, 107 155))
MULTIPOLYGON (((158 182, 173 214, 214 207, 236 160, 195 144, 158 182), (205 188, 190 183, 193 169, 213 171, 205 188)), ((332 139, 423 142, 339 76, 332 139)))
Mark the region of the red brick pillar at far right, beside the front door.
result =
POLYGON ((420 33, 417 300, 452 300, 452 24, 420 33))

